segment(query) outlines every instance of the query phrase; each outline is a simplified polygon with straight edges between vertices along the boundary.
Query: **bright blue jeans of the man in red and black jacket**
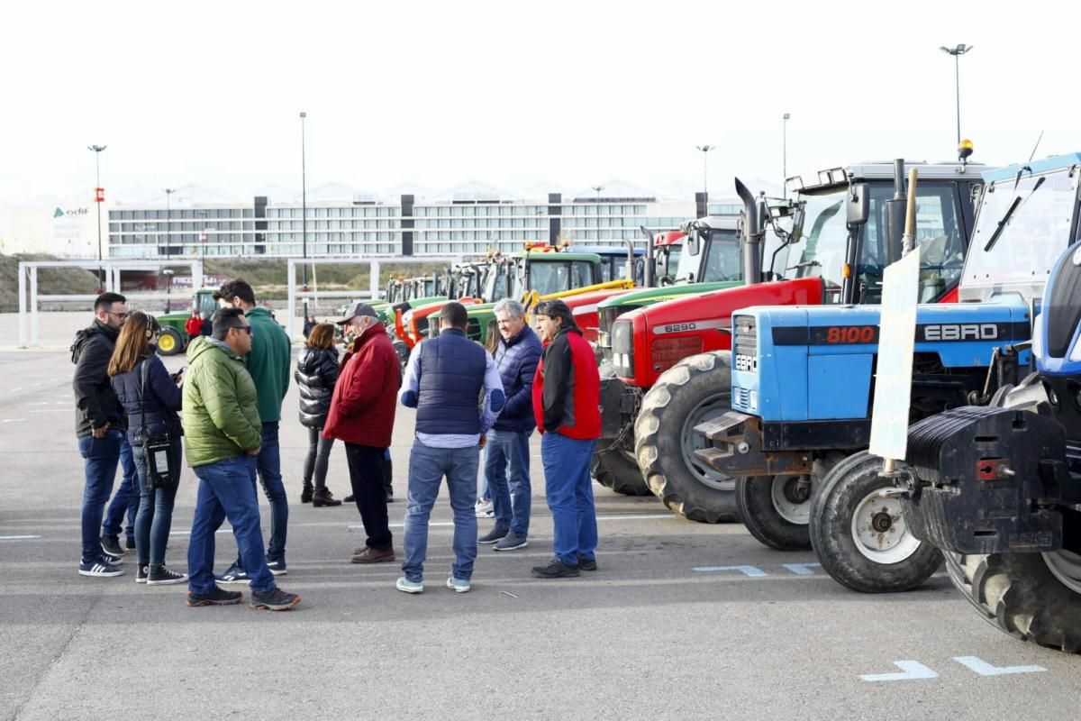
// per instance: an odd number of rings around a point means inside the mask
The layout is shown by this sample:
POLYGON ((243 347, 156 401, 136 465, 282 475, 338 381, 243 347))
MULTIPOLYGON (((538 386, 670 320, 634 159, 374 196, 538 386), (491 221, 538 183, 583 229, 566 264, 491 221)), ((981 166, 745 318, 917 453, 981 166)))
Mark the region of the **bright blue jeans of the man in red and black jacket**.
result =
POLYGON ((578 441, 557 432, 540 438, 552 550, 568 565, 577 565, 579 556, 592 560, 597 550, 597 509, 589 479, 595 448, 596 440, 578 441))

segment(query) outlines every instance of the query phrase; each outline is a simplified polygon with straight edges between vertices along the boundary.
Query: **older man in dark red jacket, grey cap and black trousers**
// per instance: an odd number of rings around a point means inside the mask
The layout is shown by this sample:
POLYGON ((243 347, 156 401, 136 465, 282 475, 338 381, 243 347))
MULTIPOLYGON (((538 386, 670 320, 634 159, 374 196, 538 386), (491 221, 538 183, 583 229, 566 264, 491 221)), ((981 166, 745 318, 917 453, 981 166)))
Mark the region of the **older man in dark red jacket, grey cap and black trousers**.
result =
POLYGON ((353 563, 393 561, 395 549, 387 522, 383 455, 390 448, 395 404, 401 385, 401 365, 386 326, 366 303, 349 306, 339 325, 352 336, 342 361, 323 436, 345 443, 349 482, 360 519, 368 534, 353 550, 353 563))

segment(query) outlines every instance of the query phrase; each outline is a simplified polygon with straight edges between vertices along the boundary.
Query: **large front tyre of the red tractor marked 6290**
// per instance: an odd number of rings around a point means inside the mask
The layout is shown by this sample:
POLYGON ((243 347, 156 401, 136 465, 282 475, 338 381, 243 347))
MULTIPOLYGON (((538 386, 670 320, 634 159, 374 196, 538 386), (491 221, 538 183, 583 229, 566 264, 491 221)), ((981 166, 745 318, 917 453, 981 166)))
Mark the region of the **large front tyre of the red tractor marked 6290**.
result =
POLYGON ((731 401, 732 353, 699 353, 660 375, 635 422, 635 454, 650 490, 692 521, 739 520, 735 479, 694 457, 707 442, 694 427, 730 410, 731 401))

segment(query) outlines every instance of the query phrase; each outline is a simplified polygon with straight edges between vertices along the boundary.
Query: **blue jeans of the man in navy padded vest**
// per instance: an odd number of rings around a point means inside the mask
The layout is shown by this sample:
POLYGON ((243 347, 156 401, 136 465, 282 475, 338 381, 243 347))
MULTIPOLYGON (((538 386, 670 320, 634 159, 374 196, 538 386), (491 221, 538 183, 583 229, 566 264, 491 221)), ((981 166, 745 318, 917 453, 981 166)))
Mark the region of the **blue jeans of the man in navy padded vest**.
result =
POLYGON ((446 477, 446 489, 454 510, 455 578, 469 580, 477 558, 477 466, 476 445, 465 449, 433 449, 413 442, 409 456, 409 493, 405 497, 405 562, 402 572, 410 580, 424 578, 424 559, 428 553, 428 518, 439 495, 439 484, 446 477))

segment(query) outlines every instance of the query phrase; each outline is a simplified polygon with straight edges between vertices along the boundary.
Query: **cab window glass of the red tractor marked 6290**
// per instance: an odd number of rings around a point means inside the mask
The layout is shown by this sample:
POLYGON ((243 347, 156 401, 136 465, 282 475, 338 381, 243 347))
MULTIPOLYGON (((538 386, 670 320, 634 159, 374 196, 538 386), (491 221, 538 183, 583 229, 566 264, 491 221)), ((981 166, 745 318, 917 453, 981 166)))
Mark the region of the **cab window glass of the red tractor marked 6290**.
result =
MULTIPOLYGON (((882 271, 890 263, 885 201, 893 185, 871 183, 870 213, 860 228, 856 276, 859 299, 879 303, 882 271)), ((845 225, 845 189, 804 196, 806 222, 800 242, 787 249, 786 278, 822 278, 826 301, 840 302, 849 230, 845 225)), ((958 280, 964 262, 964 231, 960 198, 953 183, 920 181, 917 185, 916 240, 921 249, 920 302, 937 299, 958 280)), ((780 263, 777 265, 780 268, 780 263)))

